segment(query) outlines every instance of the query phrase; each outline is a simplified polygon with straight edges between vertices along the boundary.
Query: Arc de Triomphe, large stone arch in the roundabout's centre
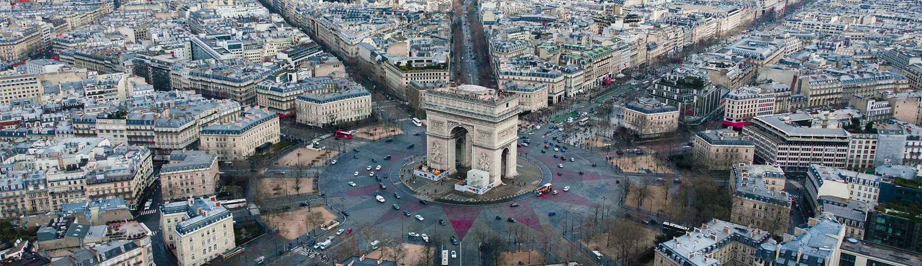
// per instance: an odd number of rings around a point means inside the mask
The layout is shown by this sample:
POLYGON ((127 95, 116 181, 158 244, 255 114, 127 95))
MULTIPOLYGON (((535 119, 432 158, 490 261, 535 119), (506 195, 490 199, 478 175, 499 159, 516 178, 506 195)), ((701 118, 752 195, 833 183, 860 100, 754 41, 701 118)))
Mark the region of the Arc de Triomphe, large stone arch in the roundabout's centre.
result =
POLYGON ((444 87, 426 91, 422 107, 430 168, 449 173, 456 166, 483 170, 489 179, 468 179, 469 185, 481 188, 517 175, 517 96, 475 85, 444 87))

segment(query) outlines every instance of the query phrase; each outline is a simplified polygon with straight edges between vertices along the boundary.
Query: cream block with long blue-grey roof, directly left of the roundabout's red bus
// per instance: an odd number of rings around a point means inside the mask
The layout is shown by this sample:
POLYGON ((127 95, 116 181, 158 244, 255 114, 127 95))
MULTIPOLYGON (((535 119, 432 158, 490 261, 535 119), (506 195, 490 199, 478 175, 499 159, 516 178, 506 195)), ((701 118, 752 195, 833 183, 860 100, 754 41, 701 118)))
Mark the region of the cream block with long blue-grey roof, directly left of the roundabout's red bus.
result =
POLYGON ((207 126, 199 133, 199 148, 222 161, 241 160, 279 141, 278 115, 244 108, 235 121, 207 126))

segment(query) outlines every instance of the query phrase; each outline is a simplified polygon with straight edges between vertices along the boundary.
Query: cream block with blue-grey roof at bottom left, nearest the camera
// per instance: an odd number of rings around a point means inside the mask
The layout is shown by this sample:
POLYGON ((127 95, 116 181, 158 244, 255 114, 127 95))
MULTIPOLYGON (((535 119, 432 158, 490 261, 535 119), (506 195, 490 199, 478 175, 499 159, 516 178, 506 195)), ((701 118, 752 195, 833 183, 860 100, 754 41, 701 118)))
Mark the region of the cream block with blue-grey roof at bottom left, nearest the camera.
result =
POLYGON ((236 247, 233 215, 214 197, 164 203, 160 226, 179 265, 202 265, 236 247))

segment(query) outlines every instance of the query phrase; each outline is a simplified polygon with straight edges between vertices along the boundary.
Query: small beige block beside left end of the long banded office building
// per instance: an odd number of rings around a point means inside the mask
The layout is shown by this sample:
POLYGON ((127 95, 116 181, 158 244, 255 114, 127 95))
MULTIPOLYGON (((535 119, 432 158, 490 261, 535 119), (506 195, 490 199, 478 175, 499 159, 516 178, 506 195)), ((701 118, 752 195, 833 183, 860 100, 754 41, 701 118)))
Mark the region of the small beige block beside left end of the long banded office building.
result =
POLYGON ((729 169, 732 166, 751 164, 755 145, 750 136, 740 135, 731 129, 706 130, 691 137, 695 161, 708 162, 705 168, 729 169))

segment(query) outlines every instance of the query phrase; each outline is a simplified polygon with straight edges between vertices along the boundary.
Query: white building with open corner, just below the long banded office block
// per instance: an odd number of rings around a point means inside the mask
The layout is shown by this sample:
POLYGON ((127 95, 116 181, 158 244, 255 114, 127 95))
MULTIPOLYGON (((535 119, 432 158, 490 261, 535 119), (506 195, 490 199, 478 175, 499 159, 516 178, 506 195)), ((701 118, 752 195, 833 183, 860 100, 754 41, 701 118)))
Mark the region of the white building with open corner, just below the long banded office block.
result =
POLYGON ((810 210, 820 209, 821 196, 833 196, 873 205, 878 202, 881 181, 881 177, 875 175, 822 165, 810 165, 807 171, 807 181, 804 184, 807 191, 804 200, 808 202, 807 207, 810 210))

